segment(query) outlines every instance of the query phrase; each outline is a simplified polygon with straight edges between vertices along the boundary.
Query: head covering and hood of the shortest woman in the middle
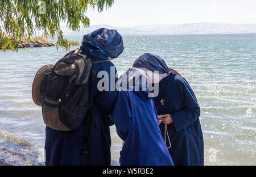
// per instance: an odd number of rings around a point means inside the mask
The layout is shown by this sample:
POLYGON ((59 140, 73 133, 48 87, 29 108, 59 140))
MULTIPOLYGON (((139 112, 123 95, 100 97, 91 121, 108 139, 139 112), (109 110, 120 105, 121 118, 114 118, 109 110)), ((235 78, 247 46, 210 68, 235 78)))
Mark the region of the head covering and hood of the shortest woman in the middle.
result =
POLYGON ((147 75, 138 68, 129 68, 118 79, 119 89, 124 91, 134 91, 145 102, 152 99, 150 91, 147 89, 147 75))

